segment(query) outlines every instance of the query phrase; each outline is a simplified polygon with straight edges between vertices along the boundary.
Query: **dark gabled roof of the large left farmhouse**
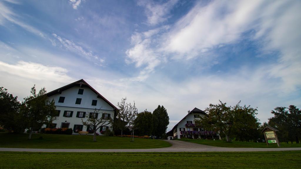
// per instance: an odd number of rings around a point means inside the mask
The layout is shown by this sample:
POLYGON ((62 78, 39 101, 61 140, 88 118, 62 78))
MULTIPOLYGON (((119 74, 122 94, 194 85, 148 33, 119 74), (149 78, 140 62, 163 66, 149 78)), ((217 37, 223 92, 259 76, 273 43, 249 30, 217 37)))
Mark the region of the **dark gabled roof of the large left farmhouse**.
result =
POLYGON ((63 86, 61 88, 58 88, 54 91, 48 92, 46 95, 48 97, 54 95, 54 94, 58 94, 58 93, 62 93, 62 91, 70 89, 74 86, 80 86, 80 87, 88 87, 90 88, 95 94, 97 94, 98 98, 101 98, 102 100, 104 100, 106 103, 108 103, 110 106, 112 106, 114 108, 114 110, 118 110, 117 107, 115 107, 112 103, 110 103, 106 98, 104 98, 101 94, 99 94, 94 88, 92 88, 86 81, 84 81, 83 79, 80 79, 79 81, 75 81, 73 83, 67 84, 66 86, 63 86))

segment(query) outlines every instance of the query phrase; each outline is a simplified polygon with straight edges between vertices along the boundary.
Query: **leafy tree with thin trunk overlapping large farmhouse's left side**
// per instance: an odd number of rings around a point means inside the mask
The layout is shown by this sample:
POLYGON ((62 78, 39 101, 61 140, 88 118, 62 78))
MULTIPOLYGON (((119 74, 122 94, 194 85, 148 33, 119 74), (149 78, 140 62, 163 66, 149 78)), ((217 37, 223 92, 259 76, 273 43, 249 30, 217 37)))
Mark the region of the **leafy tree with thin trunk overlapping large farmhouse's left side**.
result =
POLYGON ((30 128, 28 139, 31 139, 33 129, 41 128, 43 124, 51 123, 56 119, 57 111, 54 100, 49 100, 46 89, 42 88, 36 93, 36 85, 30 90, 30 96, 24 98, 21 113, 26 117, 24 121, 30 128))

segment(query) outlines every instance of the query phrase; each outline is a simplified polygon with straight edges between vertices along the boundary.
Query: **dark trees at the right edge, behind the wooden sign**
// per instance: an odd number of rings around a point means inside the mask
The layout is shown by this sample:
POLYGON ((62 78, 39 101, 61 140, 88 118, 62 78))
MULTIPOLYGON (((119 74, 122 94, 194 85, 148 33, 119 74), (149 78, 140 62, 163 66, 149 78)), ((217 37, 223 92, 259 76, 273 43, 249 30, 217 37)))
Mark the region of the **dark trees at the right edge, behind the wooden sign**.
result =
POLYGON ((278 137, 281 141, 296 141, 299 143, 301 136, 301 110, 296 106, 276 107, 271 113, 268 124, 279 130, 278 137), (274 111, 275 110, 275 111, 274 111))

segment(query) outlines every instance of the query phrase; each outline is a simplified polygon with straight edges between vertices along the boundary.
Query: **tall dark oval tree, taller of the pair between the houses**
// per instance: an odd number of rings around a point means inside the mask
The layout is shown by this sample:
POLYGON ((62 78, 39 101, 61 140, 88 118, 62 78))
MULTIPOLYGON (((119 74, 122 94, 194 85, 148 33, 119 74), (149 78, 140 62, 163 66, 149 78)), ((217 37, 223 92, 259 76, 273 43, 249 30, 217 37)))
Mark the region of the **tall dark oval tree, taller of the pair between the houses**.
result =
POLYGON ((154 110, 152 115, 152 133, 158 137, 164 137, 166 134, 167 125, 169 124, 169 117, 167 114, 167 110, 164 106, 158 106, 157 109, 154 110))

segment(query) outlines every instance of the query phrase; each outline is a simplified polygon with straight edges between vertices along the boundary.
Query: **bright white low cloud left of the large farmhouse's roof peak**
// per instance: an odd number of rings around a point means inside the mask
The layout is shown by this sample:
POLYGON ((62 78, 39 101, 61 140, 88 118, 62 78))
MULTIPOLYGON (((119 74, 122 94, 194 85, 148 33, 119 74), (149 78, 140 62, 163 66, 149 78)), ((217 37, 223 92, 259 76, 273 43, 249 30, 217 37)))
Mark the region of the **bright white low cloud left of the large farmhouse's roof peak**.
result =
POLYGON ((67 75, 68 70, 57 66, 45 66, 39 63, 19 61, 16 64, 9 64, 0 61, 0 86, 8 89, 8 92, 18 96, 22 100, 30 93, 30 88, 45 87, 47 90, 66 85, 75 81, 67 75))

